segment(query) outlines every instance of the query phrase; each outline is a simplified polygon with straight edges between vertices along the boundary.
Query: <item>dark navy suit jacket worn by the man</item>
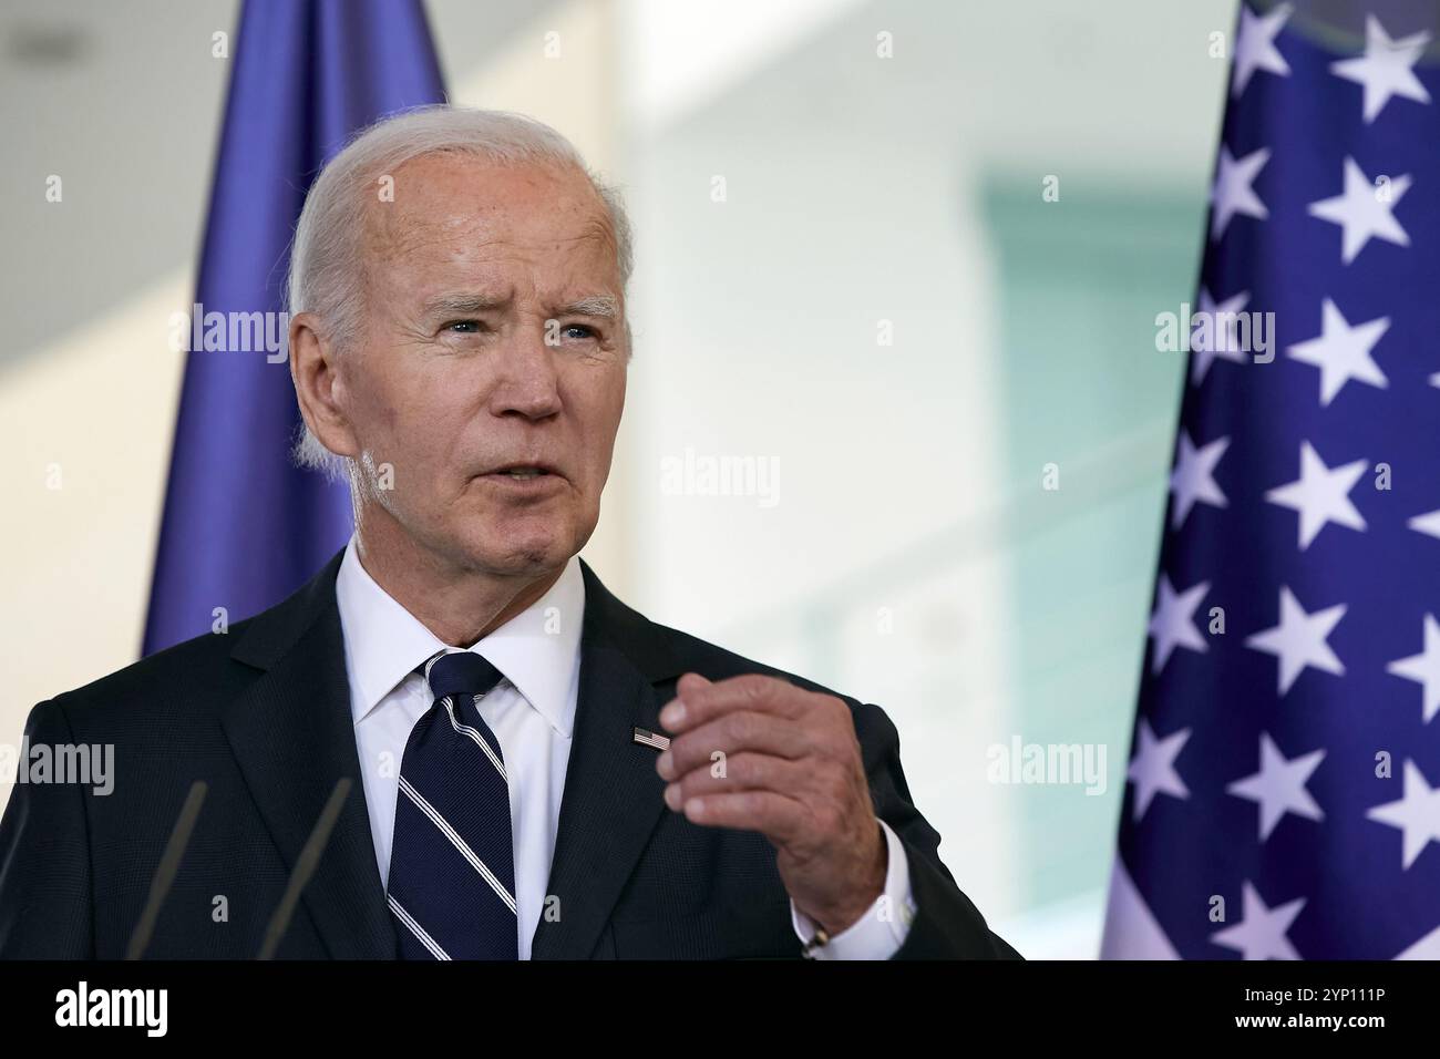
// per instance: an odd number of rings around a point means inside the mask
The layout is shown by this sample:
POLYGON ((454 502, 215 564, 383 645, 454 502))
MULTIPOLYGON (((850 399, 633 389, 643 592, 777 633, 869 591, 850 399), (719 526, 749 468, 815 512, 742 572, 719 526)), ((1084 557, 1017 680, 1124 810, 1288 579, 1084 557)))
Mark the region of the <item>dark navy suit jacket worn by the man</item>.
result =
MULTIPOLYGON (((144 955, 253 958, 341 777, 350 794, 275 955, 396 957, 350 713, 341 556, 228 634, 35 707, 30 745, 114 745, 114 790, 14 787, 0 823, 0 957, 124 957, 186 795, 203 779, 204 803, 144 955)), ((560 916, 541 916, 533 957, 799 957, 770 843, 667 810, 655 751, 635 743, 634 729, 661 730, 660 709, 687 671, 827 689, 657 625, 583 562, 582 571, 579 703, 547 889, 560 916)), ((919 905, 897 958, 1017 957, 940 862, 940 836, 910 801, 894 725, 878 706, 845 702, 876 814, 904 843, 919 905)))

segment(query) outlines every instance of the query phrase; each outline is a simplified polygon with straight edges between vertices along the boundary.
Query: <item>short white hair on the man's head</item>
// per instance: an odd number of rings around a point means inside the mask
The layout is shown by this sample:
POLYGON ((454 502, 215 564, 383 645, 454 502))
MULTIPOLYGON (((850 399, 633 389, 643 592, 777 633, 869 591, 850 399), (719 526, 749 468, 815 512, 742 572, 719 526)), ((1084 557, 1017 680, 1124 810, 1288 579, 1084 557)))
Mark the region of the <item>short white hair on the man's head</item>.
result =
MULTIPOLYGON (((317 316, 337 352, 343 353, 360 334, 364 314, 360 241, 366 231, 364 209, 376 182, 393 174, 406 161, 431 154, 461 154, 501 164, 552 164, 580 170, 609 212, 624 292, 634 268, 625 203, 615 187, 585 164, 569 140, 524 114, 445 104, 418 107, 361 130, 325 163, 305 196, 305 206, 295 226, 287 308, 291 316, 317 316)), ((628 353, 629 324, 622 323, 628 353)), ((292 452, 302 467, 348 478, 353 490, 364 484, 354 461, 327 450, 308 426, 302 425, 292 452)))

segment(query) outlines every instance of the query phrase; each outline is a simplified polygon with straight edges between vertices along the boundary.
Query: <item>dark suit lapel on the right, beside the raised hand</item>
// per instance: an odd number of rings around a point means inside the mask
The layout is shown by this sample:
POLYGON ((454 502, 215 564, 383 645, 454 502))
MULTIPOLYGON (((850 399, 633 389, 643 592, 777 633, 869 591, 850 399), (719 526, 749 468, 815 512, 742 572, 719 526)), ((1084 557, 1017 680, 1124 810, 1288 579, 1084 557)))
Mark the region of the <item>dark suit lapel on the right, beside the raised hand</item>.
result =
POLYGON ((534 960, 585 960, 599 941, 635 862, 665 808, 657 751, 634 729, 660 730, 655 682, 674 667, 654 627, 582 560, 585 628, 575 738, 560 801, 550 885, 559 918, 543 912, 534 960))

